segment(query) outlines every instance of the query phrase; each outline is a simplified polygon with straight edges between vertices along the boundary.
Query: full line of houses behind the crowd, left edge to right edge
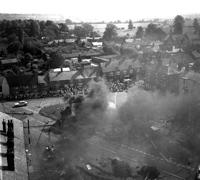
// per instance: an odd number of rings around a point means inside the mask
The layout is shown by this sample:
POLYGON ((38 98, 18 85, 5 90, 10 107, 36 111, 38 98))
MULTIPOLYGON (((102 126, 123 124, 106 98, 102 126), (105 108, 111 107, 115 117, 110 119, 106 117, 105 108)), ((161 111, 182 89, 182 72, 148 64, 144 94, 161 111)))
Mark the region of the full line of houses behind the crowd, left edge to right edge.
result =
MULTIPOLYGON (((183 69, 183 66, 179 68, 179 64, 183 61, 187 61, 187 64, 188 57, 183 56, 183 53, 176 55, 163 57, 161 65, 155 60, 156 58, 152 59, 149 64, 145 64, 139 59, 121 59, 118 56, 110 56, 87 59, 87 63, 82 61, 80 68, 75 70, 61 67, 51 69, 44 75, 37 72, 26 72, 18 75, 7 74, 5 77, 0 77, 0 96, 41 93, 65 88, 66 85, 84 86, 90 80, 99 77, 103 77, 108 81, 116 79, 123 81, 127 78, 133 81, 144 80, 146 89, 169 90, 177 93, 181 91, 180 89, 187 89, 180 88, 183 86, 180 86, 180 80, 184 80, 184 83, 188 81, 196 83, 197 75, 194 77, 187 75, 184 78, 184 75, 186 75, 185 69, 183 69)), ((189 72, 191 74, 191 71, 189 72)), ((191 88, 189 87, 189 89, 191 88)))

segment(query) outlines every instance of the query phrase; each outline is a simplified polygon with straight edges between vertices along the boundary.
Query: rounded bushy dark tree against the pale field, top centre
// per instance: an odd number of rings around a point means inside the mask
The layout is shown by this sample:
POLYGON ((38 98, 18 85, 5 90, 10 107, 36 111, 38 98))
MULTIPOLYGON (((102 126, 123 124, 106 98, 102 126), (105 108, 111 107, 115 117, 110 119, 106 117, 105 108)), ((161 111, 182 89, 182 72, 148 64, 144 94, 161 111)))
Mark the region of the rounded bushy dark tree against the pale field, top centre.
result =
POLYGON ((106 29, 103 34, 104 40, 112 40, 117 37, 117 27, 114 24, 107 24, 106 29))

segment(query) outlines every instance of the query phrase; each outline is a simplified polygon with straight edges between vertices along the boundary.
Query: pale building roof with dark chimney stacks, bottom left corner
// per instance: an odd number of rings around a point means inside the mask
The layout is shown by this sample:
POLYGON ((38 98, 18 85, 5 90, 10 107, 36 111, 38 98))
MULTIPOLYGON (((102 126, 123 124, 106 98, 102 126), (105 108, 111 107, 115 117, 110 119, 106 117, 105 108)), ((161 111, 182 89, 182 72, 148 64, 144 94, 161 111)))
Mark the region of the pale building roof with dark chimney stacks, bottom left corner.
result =
MULTIPOLYGON (((28 168, 27 168, 27 158, 25 152, 25 143, 24 143, 24 127, 23 122, 13 118, 5 113, 0 112, 0 179, 1 180, 28 180, 28 168), (7 122, 8 120, 12 120, 13 122, 13 130, 14 130, 14 159, 13 165, 14 169, 10 169, 11 163, 10 159, 8 159, 9 154, 7 154, 8 150, 8 134, 2 133, 3 124, 2 121, 6 122, 6 132, 8 129, 7 122)), ((12 160, 12 159, 11 159, 12 160)))

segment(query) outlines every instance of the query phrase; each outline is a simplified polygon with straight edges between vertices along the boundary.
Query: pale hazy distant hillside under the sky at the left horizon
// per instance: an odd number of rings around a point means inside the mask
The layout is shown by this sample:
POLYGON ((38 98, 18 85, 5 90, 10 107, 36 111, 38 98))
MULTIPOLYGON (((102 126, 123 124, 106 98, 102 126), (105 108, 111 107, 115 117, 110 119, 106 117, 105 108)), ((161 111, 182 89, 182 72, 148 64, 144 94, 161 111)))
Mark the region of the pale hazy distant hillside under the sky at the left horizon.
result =
POLYGON ((35 19, 35 20, 52 20, 64 21, 65 18, 58 14, 2 14, 0 13, 0 20, 15 20, 15 19, 35 19))

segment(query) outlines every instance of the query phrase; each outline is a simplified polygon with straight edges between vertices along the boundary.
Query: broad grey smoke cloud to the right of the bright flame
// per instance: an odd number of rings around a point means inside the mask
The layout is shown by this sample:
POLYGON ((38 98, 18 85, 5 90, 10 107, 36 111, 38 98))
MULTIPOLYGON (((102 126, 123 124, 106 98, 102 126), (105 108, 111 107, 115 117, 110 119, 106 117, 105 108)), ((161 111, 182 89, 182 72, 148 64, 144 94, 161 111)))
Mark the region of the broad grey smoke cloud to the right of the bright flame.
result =
MULTIPOLYGON (((198 94, 161 94, 133 87, 118 109, 121 142, 187 164, 200 150, 198 94), (122 130, 123 129, 123 130, 122 130), (123 133, 122 133, 123 132, 123 133)), ((148 160, 146 160, 148 163, 148 160)))

